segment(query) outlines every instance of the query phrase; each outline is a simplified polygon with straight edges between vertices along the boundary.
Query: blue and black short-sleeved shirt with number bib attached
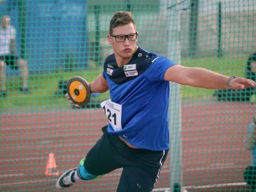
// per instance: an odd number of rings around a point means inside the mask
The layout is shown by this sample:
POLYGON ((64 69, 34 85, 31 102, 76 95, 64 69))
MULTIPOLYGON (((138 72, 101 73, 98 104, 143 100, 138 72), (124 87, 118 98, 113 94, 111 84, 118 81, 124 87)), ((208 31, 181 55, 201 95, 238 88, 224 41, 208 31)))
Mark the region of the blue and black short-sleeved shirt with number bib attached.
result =
POLYGON ((118 134, 135 147, 169 148, 168 106, 170 83, 166 70, 175 65, 168 58, 140 47, 129 63, 118 67, 115 55, 104 62, 110 100, 102 104, 109 120, 109 134, 118 134))

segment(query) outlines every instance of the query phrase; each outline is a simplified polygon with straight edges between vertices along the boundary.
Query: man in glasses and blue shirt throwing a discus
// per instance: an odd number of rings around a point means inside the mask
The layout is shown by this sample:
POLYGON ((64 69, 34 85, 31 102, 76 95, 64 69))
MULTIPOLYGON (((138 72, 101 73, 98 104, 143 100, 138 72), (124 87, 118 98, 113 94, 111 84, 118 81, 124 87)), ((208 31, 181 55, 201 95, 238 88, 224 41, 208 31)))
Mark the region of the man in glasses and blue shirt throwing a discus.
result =
POLYGON ((169 150, 169 82, 212 89, 256 87, 250 79, 175 65, 137 47, 137 36, 130 12, 113 15, 108 41, 114 53, 89 84, 92 93, 109 90, 110 99, 101 104, 109 124, 78 167, 61 175, 57 189, 123 168, 117 192, 152 191, 169 150))

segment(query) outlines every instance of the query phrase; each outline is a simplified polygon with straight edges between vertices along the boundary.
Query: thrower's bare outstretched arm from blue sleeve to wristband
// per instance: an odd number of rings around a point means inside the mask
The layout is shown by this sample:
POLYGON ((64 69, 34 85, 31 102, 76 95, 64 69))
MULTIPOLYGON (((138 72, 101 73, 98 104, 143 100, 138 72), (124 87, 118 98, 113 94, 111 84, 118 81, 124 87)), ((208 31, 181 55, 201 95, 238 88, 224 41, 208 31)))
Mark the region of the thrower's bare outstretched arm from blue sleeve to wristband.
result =
POLYGON ((166 81, 207 89, 228 88, 228 78, 205 68, 184 67, 181 65, 174 65, 168 68, 164 74, 164 80, 166 81))

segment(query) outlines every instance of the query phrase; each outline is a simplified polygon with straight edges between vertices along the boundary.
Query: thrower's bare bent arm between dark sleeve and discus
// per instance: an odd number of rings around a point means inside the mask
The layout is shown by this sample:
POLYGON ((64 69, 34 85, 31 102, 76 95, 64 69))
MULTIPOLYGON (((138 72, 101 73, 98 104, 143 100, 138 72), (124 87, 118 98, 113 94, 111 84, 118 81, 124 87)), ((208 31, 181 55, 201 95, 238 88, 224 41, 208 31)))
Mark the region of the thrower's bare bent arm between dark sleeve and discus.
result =
POLYGON ((95 81, 89 83, 92 93, 104 93, 108 91, 108 81, 100 74, 95 81))

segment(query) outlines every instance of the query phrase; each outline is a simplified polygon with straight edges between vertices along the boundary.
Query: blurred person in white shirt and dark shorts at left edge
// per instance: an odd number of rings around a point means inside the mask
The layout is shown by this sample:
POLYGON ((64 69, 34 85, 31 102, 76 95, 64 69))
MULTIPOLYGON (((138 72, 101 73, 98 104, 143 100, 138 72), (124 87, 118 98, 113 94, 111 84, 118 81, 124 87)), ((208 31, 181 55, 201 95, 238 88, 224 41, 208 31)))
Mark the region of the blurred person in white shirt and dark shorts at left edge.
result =
POLYGON ((20 68, 23 86, 20 92, 28 92, 28 63, 17 56, 15 48, 16 30, 10 25, 11 19, 4 15, 0 27, 0 88, 1 95, 6 97, 6 65, 12 69, 20 68))

